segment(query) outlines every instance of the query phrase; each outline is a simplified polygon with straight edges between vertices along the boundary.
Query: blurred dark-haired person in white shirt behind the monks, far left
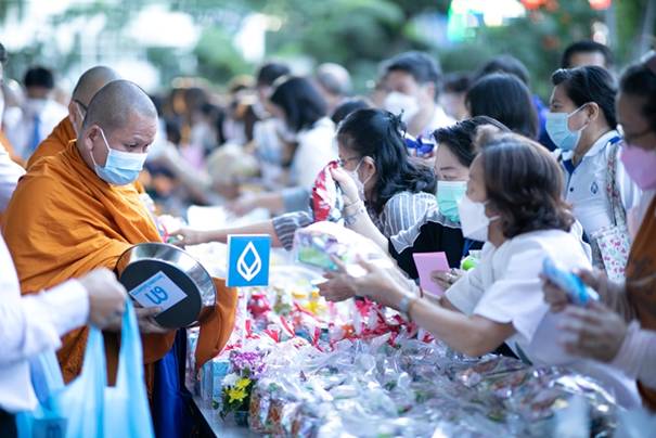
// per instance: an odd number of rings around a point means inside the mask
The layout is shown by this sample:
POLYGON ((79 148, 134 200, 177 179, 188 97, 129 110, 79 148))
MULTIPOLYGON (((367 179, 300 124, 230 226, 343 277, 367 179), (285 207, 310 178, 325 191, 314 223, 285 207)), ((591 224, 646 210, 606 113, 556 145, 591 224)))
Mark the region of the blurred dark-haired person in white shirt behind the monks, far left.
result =
POLYGON ((39 143, 68 115, 68 110, 52 99, 54 76, 44 67, 31 67, 23 80, 26 100, 21 118, 5 126, 11 144, 27 160, 39 143))

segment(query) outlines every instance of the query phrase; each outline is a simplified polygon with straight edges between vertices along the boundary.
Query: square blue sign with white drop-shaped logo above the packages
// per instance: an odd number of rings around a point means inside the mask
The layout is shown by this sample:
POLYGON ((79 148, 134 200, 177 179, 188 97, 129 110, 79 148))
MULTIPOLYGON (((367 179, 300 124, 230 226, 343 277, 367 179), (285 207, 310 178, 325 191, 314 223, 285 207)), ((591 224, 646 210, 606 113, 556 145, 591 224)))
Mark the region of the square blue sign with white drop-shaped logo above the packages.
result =
POLYGON ((269 284, 269 235, 228 236, 228 287, 269 284))

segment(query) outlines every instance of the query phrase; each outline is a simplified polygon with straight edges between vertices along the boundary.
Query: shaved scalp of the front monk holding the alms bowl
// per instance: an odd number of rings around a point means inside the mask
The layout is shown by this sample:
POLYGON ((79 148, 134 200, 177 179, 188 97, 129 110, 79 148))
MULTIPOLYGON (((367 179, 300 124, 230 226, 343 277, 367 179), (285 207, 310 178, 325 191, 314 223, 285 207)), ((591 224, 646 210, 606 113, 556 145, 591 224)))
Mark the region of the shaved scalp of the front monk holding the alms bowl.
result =
POLYGON ((157 119, 157 111, 149 95, 134 82, 114 80, 91 99, 82 129, 98 125, 105 131, 128 126, 134 117, 157 119))

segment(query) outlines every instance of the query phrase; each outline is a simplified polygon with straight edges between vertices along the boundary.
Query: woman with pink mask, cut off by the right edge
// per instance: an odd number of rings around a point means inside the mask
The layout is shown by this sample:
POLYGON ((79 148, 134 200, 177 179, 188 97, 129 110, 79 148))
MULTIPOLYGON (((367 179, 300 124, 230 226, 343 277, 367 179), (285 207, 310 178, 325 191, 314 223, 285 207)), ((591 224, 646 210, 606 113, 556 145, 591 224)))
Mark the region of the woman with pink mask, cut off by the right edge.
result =
MULTIPOLYGON (((643 403, 656 411, 656 54, 629 67, 620 80, 617 113, 625 144, 621 162, 642 189, 626 282, 602 272, 581 272, 601 297, 588 308, 568 306, 551 283, 545 299, 554 311, 566 308, 563 344, 573 355, 607 362, 639 383, 643 403)), ((630 221, 631 223, 631 221, 630 221)))

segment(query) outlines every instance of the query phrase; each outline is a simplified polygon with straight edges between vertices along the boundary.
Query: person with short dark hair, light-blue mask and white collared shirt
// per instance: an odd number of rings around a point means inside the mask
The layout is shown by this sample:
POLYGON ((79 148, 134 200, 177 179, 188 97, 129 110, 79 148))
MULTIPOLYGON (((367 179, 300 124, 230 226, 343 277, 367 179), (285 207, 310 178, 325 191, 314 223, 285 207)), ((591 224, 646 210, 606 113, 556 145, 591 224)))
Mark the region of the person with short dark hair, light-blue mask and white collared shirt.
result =
POLYGON ((552 81, 546 132, 562 151, 565 199, 591 243, 593 263, 603 269, 596 236, 617 227, 618 239, 626 240, 626 211, 641 194, 619 159, 614 79, 605 69, 589 66, 559 69, 552 81))

